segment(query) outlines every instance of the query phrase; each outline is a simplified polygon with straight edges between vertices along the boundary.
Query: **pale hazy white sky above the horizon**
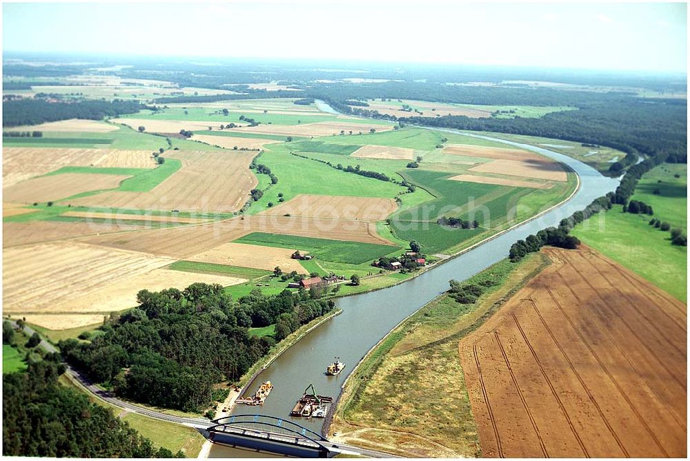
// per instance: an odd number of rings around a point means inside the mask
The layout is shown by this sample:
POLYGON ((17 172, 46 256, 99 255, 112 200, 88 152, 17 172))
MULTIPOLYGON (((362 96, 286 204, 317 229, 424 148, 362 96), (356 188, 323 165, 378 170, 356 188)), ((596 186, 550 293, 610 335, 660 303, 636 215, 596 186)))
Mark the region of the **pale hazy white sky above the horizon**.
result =
POLYGON ((684 3, 4 3, 5 51, 687 68, 684 3))

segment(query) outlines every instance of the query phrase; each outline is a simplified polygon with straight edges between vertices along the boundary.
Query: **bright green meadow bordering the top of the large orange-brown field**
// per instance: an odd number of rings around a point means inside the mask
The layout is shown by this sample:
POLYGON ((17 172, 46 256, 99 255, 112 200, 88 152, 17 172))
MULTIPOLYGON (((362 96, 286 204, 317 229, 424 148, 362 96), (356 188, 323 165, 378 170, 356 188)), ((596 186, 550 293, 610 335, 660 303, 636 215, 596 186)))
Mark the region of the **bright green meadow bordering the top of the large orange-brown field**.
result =
POLYGON ((685 303, 687 247, 671 245, 671 234, 648 222, 649 216, 623 213, 621 205, 613 205, 571 234, 685 303))

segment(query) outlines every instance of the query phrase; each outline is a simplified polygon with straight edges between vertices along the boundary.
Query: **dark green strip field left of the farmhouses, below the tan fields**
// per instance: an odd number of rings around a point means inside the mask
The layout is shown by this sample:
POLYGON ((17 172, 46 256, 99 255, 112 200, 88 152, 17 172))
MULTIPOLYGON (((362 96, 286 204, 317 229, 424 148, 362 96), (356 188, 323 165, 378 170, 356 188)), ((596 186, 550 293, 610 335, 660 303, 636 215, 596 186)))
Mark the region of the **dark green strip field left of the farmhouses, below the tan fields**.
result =
POLYGON ((319 260, 354 265, 366 263, 380 256, 400 250, 399 247, 392 245, 266 234, 263 232, 253 232, 252 234, 238 238, 235 242, 248 243, 250 245, 264 245, 267 247, 295 248, 308 252, 319 260))

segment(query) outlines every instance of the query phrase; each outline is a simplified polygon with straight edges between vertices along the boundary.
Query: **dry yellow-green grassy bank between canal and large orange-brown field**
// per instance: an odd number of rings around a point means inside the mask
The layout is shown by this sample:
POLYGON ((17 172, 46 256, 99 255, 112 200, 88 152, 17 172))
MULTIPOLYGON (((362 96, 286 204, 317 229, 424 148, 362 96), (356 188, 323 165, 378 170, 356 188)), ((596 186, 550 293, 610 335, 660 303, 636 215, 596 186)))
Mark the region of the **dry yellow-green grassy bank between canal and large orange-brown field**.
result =
POLYGON ((541 253, 502 260, 464 283, 495 284, 475 304, 446 293, 404 320, 348 378, 329 436, 395 455, 481 455, 457 342, 546 265, 541 253))

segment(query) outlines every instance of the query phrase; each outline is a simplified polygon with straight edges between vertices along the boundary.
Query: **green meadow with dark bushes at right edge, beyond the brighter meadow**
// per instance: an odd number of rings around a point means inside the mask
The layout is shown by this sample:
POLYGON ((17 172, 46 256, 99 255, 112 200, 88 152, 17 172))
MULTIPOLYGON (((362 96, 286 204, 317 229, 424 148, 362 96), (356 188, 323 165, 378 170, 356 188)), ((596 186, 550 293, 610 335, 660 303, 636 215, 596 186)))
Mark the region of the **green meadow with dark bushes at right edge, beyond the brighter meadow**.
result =
POLYGON ((687 229, 687 174, 687 165, 658 165, 642 176, 631 200, 651 205, 654 217, 671 227, 687 229), (654 194, 657 189, 659 194, 654 194))

